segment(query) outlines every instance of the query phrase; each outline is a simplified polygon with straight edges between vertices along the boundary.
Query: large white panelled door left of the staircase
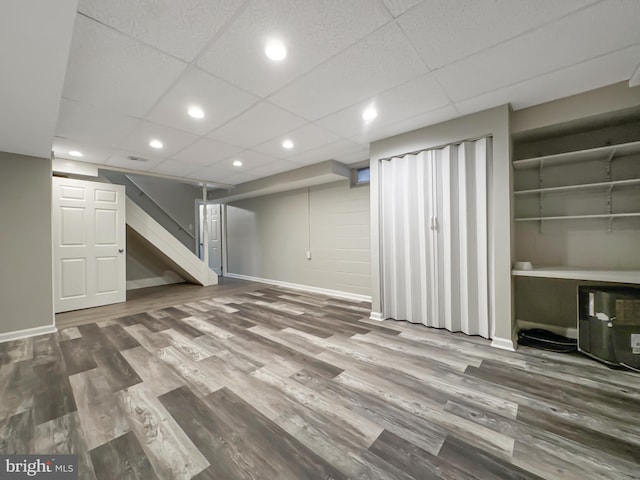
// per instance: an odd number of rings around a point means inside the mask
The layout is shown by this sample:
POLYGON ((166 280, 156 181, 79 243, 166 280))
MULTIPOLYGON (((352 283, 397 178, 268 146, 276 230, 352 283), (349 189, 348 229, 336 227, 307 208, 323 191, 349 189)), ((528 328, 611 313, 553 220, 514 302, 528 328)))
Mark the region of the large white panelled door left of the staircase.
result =
POLYGON ((126 300, 125 189, 53 178, 56 313, 126 300))

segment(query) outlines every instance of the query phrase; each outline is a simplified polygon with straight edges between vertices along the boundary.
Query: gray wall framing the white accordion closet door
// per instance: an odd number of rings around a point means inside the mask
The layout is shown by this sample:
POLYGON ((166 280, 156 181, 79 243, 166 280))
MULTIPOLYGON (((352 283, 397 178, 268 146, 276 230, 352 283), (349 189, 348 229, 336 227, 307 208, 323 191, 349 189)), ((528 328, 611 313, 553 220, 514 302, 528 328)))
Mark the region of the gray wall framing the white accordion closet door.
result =
POLYGON ((380 245, 378 205, 378 163, 382 158, 439 147, 461 140, 493 136, 493 160, 490 165, 489 252, 490 318, 495 337, 511 341, 513 302, 511 280, 511 138, 510 109, 492 108, 438 125, 414 130, 371 144, 371 294, 372 311, 381 312, 380 245))

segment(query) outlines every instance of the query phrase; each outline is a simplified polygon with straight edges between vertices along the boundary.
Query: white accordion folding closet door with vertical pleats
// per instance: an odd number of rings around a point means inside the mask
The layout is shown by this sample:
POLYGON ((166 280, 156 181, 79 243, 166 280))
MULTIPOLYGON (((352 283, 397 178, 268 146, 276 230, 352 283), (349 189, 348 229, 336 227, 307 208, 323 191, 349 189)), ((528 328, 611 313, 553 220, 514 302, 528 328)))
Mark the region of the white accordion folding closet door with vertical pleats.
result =
POLYGON ((386 318, 489 337, 490 139, 383 161, 386 318))

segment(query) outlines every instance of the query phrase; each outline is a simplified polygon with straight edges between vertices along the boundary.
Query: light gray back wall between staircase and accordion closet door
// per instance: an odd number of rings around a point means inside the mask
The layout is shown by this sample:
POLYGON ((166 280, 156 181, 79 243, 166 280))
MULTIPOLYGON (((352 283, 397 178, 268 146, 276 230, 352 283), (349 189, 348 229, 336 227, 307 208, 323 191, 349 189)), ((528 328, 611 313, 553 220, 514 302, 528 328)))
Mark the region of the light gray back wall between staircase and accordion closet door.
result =
POLYGON ((370 295, 368 186, 241 200, 227 206, 226 224, 230 273, 370 295))

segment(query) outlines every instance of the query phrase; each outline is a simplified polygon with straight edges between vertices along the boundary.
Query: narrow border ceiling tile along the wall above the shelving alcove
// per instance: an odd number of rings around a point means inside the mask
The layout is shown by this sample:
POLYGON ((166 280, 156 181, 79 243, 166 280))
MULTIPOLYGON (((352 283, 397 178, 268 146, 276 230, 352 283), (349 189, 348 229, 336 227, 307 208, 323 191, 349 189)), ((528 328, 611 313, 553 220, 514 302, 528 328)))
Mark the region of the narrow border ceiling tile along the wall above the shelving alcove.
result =
POLYGON ((640 45, 479 95, 456 104, 461 114, 511 103, 514 110, 627 80, 640 58, 640 45))

